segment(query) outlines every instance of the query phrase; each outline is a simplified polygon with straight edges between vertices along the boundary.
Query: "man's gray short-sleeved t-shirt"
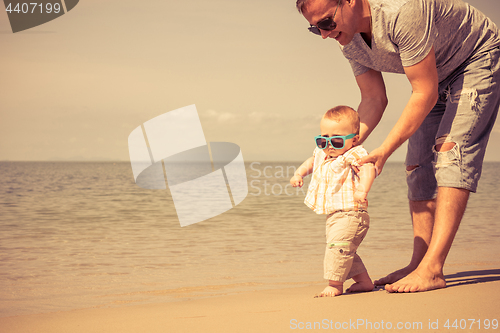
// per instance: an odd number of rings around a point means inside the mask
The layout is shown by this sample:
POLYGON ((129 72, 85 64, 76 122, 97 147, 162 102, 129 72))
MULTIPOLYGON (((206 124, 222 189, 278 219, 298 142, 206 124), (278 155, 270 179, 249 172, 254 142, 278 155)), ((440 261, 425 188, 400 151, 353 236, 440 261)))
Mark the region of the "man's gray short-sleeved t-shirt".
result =
POLYGON ((403 74, 403 66, 422 61, 434 45, 441 82, 474 54, 500 46, 497 26, 461 0, 368 1, 371 48, 360 34, 341 46, 355 76, 370 68, 403 74))

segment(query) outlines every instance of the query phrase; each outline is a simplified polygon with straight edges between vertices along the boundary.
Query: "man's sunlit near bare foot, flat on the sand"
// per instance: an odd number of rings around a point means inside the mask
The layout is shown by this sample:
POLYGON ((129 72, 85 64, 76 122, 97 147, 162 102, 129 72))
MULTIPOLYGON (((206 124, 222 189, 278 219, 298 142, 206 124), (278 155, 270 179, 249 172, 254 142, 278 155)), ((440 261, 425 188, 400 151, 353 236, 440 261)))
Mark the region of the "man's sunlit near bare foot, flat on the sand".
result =
POLYGON ((418 268, 405 278, 385 286, 385 290, 391 293, 413 293, 441 288, 446 288, 446 280, 442 273, 433 274, 426 269, 418 268))

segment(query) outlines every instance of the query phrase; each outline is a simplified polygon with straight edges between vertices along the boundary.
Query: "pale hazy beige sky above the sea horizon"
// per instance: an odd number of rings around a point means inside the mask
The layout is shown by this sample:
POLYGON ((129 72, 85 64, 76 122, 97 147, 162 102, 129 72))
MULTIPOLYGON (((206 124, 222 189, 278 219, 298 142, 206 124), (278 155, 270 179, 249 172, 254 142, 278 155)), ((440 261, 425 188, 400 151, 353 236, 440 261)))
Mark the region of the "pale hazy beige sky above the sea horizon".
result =
MULTIPOLYGON (((468 2, 499 23, 497 1, 468 2)), ((238 144, 245 161, 305 160, 323 113, 360 101, 337 42, 307 27, 294 0, 82 0, 18 33, 1 11, 0 160, 128 161, 137 126, 191 104, 206 140, 238 144)), ((411 92, 404 75, 384 79, 368 151, 411 92)), ((485 160, 500 161, 499 145, 497 122, 485 160)))

